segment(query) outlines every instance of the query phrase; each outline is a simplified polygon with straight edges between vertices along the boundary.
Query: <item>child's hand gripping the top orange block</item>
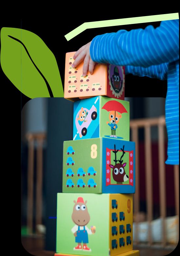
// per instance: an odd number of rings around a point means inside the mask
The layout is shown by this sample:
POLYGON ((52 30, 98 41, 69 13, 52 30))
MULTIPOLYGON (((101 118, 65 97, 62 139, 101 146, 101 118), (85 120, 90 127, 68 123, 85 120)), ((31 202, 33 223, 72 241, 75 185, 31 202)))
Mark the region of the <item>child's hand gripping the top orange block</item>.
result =
POLYGON ((87 75, 88 70, 92 75, 95 64, 96 64, 96 62, 94 62, 90 57, 90 52, 89 52, 90 44, 91 42, 82 46, 73 56, 73 59, 75 60, 72 65, 73 68, 76 68, 82 61, 84 61, 84 65, 82 69, 83 76, 87 75))

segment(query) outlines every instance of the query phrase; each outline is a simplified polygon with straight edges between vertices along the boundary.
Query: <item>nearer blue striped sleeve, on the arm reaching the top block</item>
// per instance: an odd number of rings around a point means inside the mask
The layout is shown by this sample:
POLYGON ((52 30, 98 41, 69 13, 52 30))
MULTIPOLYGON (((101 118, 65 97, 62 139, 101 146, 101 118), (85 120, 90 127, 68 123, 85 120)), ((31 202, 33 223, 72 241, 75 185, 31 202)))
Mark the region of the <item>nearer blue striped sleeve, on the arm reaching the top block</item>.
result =
POLYGON ((149 67, 179 59, 179 20, 161 21, 159 27, 119 30, 93 38, 93 61, 120 66, 149 67))

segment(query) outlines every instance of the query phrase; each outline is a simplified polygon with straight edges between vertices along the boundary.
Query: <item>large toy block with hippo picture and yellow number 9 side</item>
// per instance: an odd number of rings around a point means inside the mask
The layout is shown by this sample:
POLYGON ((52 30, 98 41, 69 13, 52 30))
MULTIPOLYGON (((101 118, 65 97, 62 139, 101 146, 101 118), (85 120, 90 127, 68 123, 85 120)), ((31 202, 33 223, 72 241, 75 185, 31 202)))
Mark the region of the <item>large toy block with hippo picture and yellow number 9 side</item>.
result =
POLYGON ((60 255, 114 256, 132 251, 133 229, 127 232, 127 225, 133 228, 133 194, 58 193, 60 255), (119 232, 121 225, 124 233, 119 232))

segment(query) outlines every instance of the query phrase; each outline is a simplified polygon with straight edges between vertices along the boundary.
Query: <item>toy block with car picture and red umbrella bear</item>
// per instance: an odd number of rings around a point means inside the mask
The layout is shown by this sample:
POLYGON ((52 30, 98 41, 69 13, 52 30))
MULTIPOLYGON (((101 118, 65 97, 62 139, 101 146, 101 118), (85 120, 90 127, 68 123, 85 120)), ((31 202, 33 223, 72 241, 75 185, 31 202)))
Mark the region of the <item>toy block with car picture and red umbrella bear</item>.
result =
POLYGON ((98 96, 74 103, 73 140, 107 137, 129 141, 129 102, 98 96))

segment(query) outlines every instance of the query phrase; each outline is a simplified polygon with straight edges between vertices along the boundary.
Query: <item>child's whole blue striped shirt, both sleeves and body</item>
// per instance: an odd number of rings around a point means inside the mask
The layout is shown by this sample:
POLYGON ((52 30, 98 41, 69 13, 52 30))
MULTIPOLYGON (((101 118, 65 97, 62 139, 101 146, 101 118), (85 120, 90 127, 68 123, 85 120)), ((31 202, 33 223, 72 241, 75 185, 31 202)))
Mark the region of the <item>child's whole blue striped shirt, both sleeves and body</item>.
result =
POLYGON ((93 61, 125 66, 126 74, 168 81, 165 104, 168 132, 166 164, 179 164, 179 20, 161 21, 131 31, 119 30, 93 38, 93 61))

